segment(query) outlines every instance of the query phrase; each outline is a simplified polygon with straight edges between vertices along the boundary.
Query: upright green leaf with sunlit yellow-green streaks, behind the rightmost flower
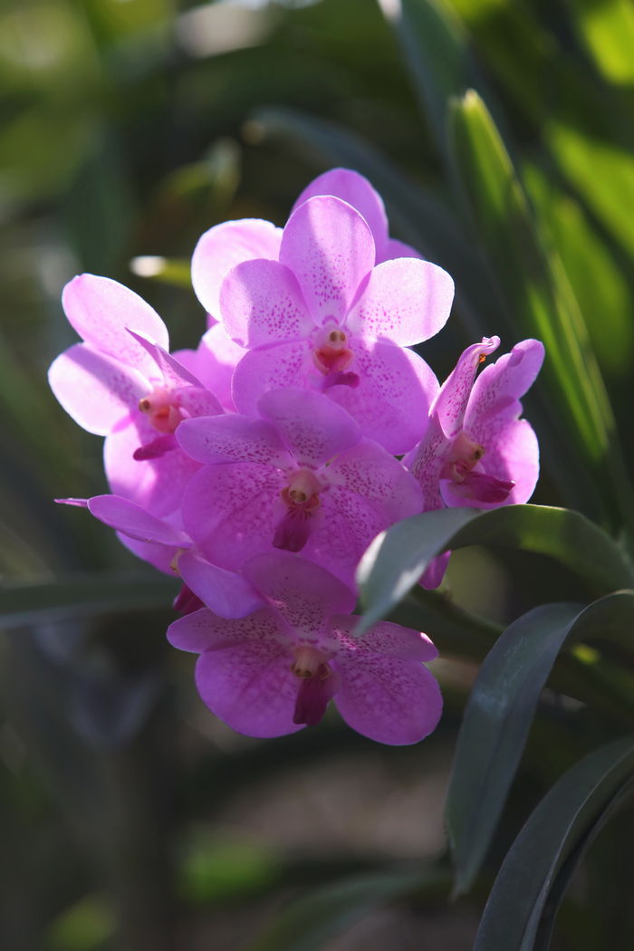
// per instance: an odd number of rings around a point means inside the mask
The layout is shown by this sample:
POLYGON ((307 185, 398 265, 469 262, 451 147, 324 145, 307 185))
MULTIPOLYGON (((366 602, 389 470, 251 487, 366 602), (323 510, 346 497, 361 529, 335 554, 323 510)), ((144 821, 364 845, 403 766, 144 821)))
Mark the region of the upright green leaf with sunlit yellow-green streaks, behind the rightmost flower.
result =
MULTIPOLYGON (((634 529, 634 498, 615 434, 615 422, 586 325, 561 262, 547 260, 526 195, 482 100, 470 90, 450 115, 455 174, 476 234, 483 243, 514 334, 544 341, 548 359, 538 386, 544 408, 557 401, 563 445, 575 447, 605 512, 616 524, 618 500, 634 529)), ((569 462, 568 462, 569 464, 569 462)))

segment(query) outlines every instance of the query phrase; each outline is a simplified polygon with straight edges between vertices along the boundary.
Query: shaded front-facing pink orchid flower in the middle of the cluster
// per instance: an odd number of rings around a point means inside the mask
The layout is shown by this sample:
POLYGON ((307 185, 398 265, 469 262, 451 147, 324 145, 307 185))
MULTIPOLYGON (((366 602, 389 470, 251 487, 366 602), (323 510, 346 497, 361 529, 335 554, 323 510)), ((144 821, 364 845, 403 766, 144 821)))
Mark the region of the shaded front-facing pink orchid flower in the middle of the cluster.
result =
POLYGON ((353 584, 375 534, 420 511, 416 480, 318 393, 272 390, 258 410, 255 419, 187 419, 179 427, 184 452, 205 463, 183 495, 186 531, 210 561, 233 571, 280 548, 353 584))

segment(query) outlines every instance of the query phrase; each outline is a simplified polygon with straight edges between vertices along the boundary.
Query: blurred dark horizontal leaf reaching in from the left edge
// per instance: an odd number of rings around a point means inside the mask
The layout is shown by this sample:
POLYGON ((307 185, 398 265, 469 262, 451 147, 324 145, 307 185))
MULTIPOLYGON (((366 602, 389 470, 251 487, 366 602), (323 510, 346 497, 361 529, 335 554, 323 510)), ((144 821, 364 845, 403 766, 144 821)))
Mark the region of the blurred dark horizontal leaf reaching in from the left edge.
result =
POLYGON ((171 579, 93 574, 0 589, 0 629, 69 617, 167 608, 178 586, 171 579))

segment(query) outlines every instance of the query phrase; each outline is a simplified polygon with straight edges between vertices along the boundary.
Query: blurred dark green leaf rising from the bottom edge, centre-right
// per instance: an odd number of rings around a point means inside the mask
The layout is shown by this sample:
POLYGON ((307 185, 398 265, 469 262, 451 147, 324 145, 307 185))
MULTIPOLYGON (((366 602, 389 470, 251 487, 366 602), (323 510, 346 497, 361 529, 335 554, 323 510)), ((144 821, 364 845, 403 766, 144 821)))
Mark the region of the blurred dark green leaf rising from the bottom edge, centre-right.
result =
POLYGON ((244 951, 320 951, 375 908, 419 888, 444 890, 446 873, 432 868, 381 872, 315 888, 283 910, 244 951))

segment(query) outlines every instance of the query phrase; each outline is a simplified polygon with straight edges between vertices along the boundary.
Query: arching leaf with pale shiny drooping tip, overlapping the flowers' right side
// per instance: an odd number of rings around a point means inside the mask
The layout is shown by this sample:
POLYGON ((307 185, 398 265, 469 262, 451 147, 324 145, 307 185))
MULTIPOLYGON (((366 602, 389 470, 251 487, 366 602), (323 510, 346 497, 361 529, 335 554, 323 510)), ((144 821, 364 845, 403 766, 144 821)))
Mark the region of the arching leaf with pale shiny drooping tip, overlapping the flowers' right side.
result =
POLYGON ((377 535, 361 558, 356 580, 365 612, 358 631, 367 631, 392 611, 436 555, 467 545, 547 554, 600 593, 634 583, 634 568, 624 552, 578 512, 539 505, 489 512, 439 509, 413 515, 377 535))

